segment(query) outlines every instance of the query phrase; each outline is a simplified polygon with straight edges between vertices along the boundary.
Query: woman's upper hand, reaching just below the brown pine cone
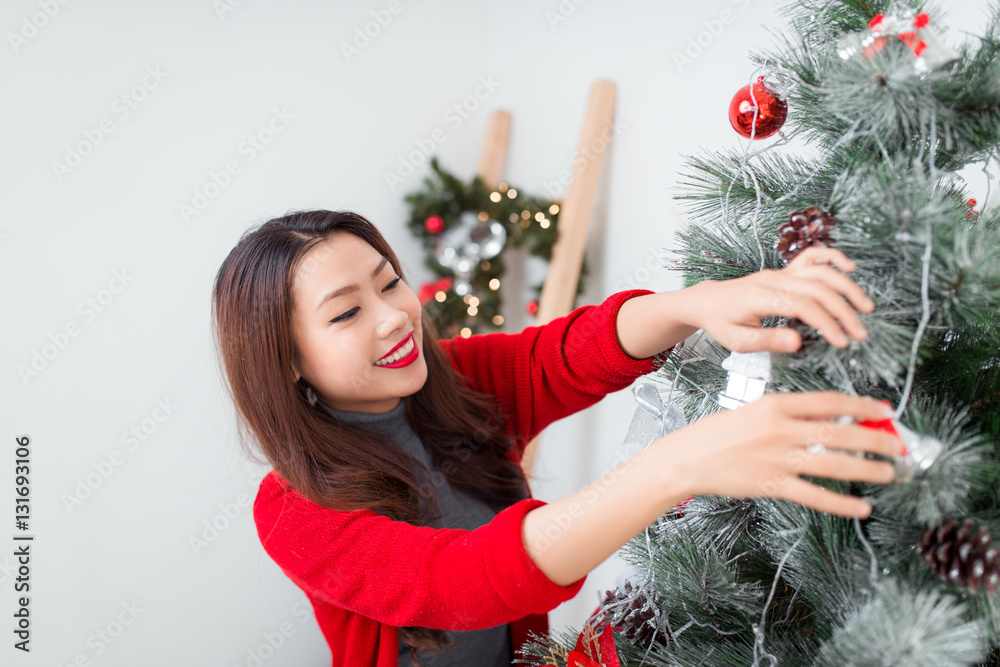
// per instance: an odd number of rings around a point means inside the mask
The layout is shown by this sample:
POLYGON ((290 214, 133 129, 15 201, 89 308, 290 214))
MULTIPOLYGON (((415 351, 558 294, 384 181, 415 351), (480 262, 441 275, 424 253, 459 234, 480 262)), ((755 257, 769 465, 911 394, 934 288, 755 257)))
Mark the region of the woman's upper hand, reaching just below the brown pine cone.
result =
POLYGON ((690 297, 686 321, 734 352, 799 349, 802 339, 794 330, 761 327, 761 318, 768 315, 797 317, 834 347, 847 347, 848 335, 855 340, 868 335, 855 309, 869 313, 875 304, 830 264, 845 273, 855 267, 834 248, 807 248, 780 270, 702 281, 684 290, 690 297))

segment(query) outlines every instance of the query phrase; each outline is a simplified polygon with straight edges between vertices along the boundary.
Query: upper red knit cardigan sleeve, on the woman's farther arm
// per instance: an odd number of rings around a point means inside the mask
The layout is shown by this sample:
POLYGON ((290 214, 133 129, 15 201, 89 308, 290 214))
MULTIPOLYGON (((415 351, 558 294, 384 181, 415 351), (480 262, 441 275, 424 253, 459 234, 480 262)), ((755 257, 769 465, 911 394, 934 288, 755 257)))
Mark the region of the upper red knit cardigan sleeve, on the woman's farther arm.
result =
POLYGON ((507 430, 523 451, 552 422, 656 370, 654 357, 633 359, 625 354, 616 330, 618 309, 643 294, 653 292, 618 292, 599 305, 581 306, 516 334, 439 342, 472 389, 497 398, 507 430))

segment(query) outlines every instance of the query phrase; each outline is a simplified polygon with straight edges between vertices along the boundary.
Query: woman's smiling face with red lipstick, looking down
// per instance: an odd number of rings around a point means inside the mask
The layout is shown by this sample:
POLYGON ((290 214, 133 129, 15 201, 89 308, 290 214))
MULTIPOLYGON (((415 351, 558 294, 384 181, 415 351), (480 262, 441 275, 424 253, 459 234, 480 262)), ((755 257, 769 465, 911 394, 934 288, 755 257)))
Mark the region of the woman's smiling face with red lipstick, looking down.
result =
POLYGON ((360 237, 334 232, 310 248, 295 270, 292 300, 295 378, 331 408, 387 412, 424 385, 420 300, 360 237))

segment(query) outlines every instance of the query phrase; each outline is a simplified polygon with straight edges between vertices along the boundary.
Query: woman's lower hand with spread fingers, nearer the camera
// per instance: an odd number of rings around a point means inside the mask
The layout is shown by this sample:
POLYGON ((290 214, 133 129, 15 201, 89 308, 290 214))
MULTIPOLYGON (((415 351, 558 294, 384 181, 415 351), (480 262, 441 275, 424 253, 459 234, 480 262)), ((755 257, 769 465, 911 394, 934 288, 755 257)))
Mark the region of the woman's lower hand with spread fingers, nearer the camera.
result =
MULTIPOLYGON (((713 414, 655 441, 658 467, 667 485, 685 497, 719 495, 790 500, 846 517, 867 517, 871 505, 801 479, 811 475, 885 484, 895 477, 885 457, 902 453, 893 435, 832 419, 885 417, 885 405, 837 392, 768 394, 758 401, 713 414), (811 447, 819 444, 822 447, 811 447), (833 450, 846 450, 833 451, 833 450)), ((647 451, 648 451, 647 450, 647 451)))

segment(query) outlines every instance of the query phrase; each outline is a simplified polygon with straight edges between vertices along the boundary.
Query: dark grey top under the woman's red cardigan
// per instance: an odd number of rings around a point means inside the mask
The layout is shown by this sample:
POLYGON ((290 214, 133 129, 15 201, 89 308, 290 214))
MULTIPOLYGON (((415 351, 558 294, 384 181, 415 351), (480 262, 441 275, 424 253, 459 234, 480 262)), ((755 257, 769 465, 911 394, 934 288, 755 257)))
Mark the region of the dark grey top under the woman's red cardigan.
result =
MULTIPOLYGON (((347 412, 323 406, 332 416, 341 421, 364 425, 384 431, 398 442, 404 450, 415 456, 434 471, 430 453, 424 448, 423 442, 414 433, 410 421, 406 417, 406 405, 399 402, 392 410, 381 414, 368 412, 347 412)), ((496 513, 487 505, 471 498, 461 491, 455 491, 448 484, 443 474, 435 474, 428 480, 426 473, 418 470, 428 487, 433 487, 438 503, 441 505, 442 516, 431 522, 433 528, 463 528, 474 530, 489 523, 496 513)), ((417 657, 424 665, 433 667, 509 667, 514 660, 510 645, 508 624, 497 625, 484 630, 447 631, 448 639, 456 646, 440 655, 426 651, 417 651, 417 657)), ((399 665, 410 667, 410 647, 400 640, 399 665)))

